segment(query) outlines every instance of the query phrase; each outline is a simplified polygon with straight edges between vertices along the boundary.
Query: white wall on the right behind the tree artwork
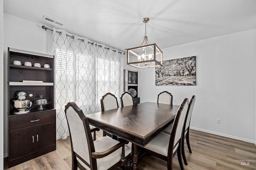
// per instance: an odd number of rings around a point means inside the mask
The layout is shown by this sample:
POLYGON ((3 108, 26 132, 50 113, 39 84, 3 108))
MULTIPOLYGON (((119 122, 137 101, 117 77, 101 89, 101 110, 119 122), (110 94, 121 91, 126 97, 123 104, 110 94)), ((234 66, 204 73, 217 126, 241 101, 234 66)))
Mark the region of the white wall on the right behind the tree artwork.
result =
POLYGON ((155 86, 155 69, 140 69, 140 101, 156 102, 164 90, 172 93, 176 105, 196 95, 190 127, 254 143, 255 47, 256 29, 252 29, 162 49, 164 60, 196 56, 197 85, 155 86))

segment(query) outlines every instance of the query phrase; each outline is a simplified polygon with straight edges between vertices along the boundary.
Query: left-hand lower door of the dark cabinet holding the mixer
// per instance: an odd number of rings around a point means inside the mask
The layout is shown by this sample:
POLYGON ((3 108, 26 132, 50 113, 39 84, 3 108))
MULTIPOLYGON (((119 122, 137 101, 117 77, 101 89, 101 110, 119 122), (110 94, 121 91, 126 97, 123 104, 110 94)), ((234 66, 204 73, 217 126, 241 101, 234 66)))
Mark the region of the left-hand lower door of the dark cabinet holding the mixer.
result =
POLYGON ((35 137, 34 127, 29 127, 17 131, 10 132, 9 156, 16 158, 18 156, 34 151, 35 137))

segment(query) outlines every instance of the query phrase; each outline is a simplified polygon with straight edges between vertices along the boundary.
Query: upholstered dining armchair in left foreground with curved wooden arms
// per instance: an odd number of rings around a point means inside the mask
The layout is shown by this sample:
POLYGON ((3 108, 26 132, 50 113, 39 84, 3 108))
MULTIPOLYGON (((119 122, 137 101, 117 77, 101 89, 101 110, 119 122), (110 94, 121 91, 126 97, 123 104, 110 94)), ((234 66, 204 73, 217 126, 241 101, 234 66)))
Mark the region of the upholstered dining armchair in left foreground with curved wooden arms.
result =
POLYGON ((92 140, 88 118, 74 102, 65 106, 65 114, 70 131, 72 149, 72 170, 106 170, 118 166, 129 167, 131 149, 126 141, 116 141, 110 137, 92 140))

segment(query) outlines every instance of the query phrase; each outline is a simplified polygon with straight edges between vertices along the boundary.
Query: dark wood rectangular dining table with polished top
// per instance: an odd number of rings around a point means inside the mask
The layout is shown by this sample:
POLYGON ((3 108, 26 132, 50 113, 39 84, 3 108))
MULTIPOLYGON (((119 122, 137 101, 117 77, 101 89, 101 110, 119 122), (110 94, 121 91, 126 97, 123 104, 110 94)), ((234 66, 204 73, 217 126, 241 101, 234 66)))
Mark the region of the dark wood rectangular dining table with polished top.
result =
POLYGON ((132 169, 138 168, 138 146, 144 147, 166 129, 178 105, 140 103, 86 115, 91 125, 132 143, 132 169))

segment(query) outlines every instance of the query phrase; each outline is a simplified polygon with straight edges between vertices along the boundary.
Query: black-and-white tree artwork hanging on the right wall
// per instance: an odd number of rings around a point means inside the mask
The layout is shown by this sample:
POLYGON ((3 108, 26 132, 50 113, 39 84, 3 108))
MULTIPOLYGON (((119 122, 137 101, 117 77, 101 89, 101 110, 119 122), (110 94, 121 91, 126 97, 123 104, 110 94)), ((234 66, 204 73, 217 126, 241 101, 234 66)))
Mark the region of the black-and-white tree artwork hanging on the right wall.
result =
POLYGON ((156 67, 156 86, 196 86, 196 56, 163 61, 156 67))

